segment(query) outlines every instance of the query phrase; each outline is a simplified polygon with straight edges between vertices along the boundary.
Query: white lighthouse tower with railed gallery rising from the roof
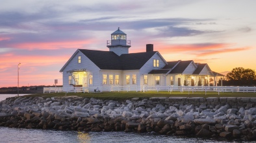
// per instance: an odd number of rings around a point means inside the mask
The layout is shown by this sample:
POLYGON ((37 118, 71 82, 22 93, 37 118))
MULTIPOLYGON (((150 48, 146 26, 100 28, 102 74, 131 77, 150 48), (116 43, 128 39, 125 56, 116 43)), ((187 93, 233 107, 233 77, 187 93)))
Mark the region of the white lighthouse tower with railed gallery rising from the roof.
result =
POLYGON ((111 40, 107 41, 109 51, 116 53, 118 56, 122 54, 129 54, 131 40, 127 40, 126 38, 127 35, 118 27, 118 30, 111 34, 111 40))

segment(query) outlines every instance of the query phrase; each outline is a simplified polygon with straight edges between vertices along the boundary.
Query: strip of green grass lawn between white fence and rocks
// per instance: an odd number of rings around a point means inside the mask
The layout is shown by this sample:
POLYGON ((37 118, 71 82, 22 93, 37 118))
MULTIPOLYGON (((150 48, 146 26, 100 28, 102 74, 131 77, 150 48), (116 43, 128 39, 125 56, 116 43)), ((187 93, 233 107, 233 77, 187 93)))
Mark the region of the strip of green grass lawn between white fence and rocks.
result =
POLYGON ((135 92, 135 91, 129 91, 129 92, 103 92, 103 93, 45 93, 45 94, 30 94, 27 96, 42 96, 44 98, 47 97, 53 97, 53 96, 81 96, 81 97, 88 97, 88 98, 97 98, 97 99, 103 99, 103 100, 126 100, 131 99, 134 97, 138 98, 150 98, 150 97, 256 97, 256 93, 220 93, 218 95, 218 92, 207 92, 205 95, 205 92, 194 92, 188 94, 188 91, 186 92, 179 92, 179 91, 173 91, 171 94, 168 93, 168 91, 147 91, 145 93, 143 92, 135 92))

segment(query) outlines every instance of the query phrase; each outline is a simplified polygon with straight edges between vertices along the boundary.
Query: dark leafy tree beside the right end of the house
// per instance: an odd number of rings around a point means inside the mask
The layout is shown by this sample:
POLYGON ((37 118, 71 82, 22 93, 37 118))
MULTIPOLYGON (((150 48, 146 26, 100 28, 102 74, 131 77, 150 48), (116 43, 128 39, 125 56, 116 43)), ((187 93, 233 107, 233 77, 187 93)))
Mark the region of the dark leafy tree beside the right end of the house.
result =
POLYGON ((244 69, 236 67, 231 72, 227 73, 227 80, 256 80, 255 71, 252 69, 244 69))

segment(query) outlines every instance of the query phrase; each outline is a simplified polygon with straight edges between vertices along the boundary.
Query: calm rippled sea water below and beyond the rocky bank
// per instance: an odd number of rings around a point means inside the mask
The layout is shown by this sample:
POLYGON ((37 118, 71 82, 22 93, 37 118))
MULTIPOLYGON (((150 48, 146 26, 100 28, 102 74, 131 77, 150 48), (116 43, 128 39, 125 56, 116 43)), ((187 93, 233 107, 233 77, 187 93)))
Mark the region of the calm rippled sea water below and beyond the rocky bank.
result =
MULTIPOLYGON (((24 94, 19 94, 22 96, 24 94)), ((0 101, 17 94, 0 94, 0 101)), ((42 129, 16 129, 0 127, 0 142, 6 143, 138 143, 138 142, 229 142, 227 140, 175 137, 166 135, 154 135, 150 133, 124 133, 124 132, 90 132, 81 133, 78 131, 56 131, 42 129)), ((236 141, 232 141, 236 142, 236 141)), ((238 141, 239 142, 239 141, 238 141)))

